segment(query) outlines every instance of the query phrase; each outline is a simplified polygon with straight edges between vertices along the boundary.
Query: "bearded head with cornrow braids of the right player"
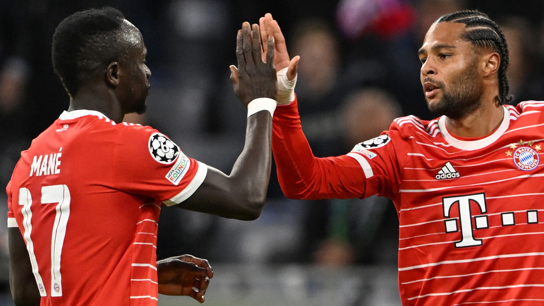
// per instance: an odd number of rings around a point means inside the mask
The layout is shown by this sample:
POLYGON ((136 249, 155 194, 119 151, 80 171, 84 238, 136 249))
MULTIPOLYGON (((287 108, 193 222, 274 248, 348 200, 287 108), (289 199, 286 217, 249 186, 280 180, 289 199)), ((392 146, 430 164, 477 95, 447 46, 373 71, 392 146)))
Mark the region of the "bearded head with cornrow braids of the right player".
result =
POLYGON ((439 17, 418 53, 425 99, 434 113, 462 118, 489 95, 498 104, 511 101, 508 46, 486 14, 465 10, 439 17))

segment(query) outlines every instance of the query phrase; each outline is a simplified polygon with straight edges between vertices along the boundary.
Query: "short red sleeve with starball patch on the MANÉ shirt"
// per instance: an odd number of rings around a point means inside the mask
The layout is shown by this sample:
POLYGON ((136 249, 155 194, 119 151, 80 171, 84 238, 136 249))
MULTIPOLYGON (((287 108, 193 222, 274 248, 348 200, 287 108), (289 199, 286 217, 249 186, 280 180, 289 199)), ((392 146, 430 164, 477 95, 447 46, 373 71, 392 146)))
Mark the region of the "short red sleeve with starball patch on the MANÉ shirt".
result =
POLYGON ((119 128, 113 149, 115 188, 170 206, 183 202, 202 184, 207 166, 185 155, 168 136, 151 127, 119 128))

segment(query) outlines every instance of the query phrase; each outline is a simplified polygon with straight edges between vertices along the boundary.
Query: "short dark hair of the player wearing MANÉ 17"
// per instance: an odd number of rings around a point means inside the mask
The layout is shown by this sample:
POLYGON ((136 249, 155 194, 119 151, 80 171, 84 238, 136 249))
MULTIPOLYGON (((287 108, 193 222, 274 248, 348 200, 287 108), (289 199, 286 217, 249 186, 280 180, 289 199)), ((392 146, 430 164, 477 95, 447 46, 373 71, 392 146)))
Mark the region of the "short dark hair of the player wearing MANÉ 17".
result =
POLYGON ((53 35, 51 58, 70 96, 99 68, 121 59, 124 19, 118 9, 104 7, 79 11, 60 22, 53 35))

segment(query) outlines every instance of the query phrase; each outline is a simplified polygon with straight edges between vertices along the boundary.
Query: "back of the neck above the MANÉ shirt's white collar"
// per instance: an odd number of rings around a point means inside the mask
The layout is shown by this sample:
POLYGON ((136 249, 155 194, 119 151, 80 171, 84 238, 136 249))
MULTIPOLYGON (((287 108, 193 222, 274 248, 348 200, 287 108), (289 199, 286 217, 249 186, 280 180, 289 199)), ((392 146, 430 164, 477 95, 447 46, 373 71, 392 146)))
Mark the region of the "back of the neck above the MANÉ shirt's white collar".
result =
POLYGON ((70 97, 68 111, 87 109, 96 110, 115 122, 121 122, 125 114, 114 92, 104 89, 103 85, 88 85, 80 88, 75 97, 70 97))

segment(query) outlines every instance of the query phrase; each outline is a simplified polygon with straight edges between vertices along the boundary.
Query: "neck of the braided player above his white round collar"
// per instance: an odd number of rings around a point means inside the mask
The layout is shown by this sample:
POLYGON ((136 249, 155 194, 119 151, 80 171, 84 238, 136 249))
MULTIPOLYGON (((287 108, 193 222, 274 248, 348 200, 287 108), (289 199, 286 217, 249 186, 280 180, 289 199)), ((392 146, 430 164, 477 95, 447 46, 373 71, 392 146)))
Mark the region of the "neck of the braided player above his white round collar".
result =
POLYGON ((487 100, 481 104, 481 107, 473 111, 471 114, 460 118, 452 119, 446 117, 446 127, 449 132, 454 135, 477 138, 491 134, 498 128, 504 119, 504 109, 494 101, 487 100))

